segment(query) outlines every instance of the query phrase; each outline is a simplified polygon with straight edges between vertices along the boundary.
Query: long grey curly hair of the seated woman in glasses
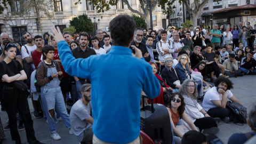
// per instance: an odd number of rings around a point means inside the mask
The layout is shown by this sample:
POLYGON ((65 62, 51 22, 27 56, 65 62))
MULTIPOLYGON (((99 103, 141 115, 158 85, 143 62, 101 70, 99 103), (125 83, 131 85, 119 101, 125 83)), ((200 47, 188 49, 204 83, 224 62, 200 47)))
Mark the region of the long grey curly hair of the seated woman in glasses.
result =
POLYGON ((186 79, 186 80, 182 83, 182 85, 181 85, 181 87, 180 87, 180 89, 179 89, 178 92, 181 93, 182 95, 187 95, 188 97, 191 97, 191 98, 193 98, 193 99, 196 99, 198 93, 197 93, 195 81, 194 81, 193 79, 186 79), (193 93, 193 94, 190 94, 190 93, 187 92, 187 85, 188 85, 189 82, 193 82, 194 85, 195 85, 195 90, 194 90, 194 93, 193 93))

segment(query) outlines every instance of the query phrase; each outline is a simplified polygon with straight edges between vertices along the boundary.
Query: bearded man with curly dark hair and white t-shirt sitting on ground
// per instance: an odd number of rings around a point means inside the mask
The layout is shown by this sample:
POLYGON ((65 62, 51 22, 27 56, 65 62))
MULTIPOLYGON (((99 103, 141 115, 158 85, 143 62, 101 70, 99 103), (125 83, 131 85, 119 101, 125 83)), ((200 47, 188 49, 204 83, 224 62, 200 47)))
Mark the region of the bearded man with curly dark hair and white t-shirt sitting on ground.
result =
POLYGON ((233 95, 233 83, 226 77, 218 77, 214 87, 204 95, 202 107, 211 117, 220 117, 225 123, 232 120, 230 110, 226 108, 227 98, 232 102, 242 103, 233 95))

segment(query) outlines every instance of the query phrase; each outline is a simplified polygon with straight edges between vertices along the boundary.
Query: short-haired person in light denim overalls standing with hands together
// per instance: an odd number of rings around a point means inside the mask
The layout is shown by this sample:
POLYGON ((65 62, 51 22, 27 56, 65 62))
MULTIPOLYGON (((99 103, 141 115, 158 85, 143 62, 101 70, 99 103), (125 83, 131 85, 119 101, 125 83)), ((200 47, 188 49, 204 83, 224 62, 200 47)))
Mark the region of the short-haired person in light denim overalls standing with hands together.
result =
MULTIPOLYGON (((54 140, 60 140, 60 135, 56 132, 56 124, 58 119, 55 111, 60 114, 64 124, 69 129, 69 134, 73 134, 69 121, 69 115, 65 106, 63 95, 60 88, 60 80, 62 79, 62 71, 58 62, 53 60, 54 47, 45 45, 42 49, 44 61, 40 62, 37 70, 37 84, 41 86, 41 98, 42 105, 47 110, 46 113, 49 130, 51 132, 51 138, 54 140), (44 66, 46 65, 46 67, 44 66), (47 68, 47 74, 44 74, 45 68, 47 68)), ((26 125, 25 125, 26 126, 26 125)))

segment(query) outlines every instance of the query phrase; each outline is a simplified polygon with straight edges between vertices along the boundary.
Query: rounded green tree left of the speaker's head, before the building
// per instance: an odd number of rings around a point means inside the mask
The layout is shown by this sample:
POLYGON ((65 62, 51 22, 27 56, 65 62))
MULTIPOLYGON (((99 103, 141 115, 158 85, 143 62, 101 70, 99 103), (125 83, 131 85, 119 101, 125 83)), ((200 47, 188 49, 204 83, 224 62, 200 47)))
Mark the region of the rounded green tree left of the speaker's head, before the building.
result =
POLYGON ((79 15, 78 18, 72 18, 72 20, 70 20, 70 26, 74 26, 78 33, 81 31, 86 31, 88 34, 90 34, 93 31, 92 20, 89 19, 86 14, 79 15))

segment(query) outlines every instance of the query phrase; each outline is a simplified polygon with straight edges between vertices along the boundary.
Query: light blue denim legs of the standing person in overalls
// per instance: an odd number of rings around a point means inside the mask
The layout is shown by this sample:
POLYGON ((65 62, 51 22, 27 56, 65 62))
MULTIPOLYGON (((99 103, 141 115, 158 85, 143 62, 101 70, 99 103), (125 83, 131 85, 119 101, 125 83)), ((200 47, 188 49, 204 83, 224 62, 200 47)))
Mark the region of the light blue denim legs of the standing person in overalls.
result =
POLYGON ((68 129, 70 129, 71 125, 70 125, 69 115, 67 113, 67 109, 65 106, 65 102, 63 99, 60 86, 54 87, 54 88, 41 87, 41 92, 43 93, 41 94, 43 107, 45 108, 45 112, 47 110, 46 116, 47 116, 50 132, 51 133, 56 132, 56 124, 58 123, 58 120, 57 120, 57 114, 55 113, 55 111, 59 113, 64 124, 68 127, 68 129), (48 111, 50 109, 55 109, 53 117, 51 117, 48 111))

